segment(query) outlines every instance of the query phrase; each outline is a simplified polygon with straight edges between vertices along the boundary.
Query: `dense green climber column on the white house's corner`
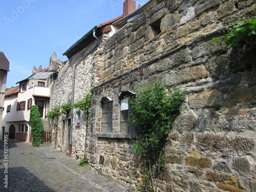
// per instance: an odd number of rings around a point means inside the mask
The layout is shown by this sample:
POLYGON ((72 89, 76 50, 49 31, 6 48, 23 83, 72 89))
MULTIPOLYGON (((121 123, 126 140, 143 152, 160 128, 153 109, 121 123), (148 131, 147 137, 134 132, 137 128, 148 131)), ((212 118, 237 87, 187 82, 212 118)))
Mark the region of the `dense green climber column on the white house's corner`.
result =
POLYGON ((42 132, 44 127, 40 118, 40 112, 37 105, 33 105, 30 109, 29 124, 32 131, 32 145, 38 147, 42 142, 42 132))

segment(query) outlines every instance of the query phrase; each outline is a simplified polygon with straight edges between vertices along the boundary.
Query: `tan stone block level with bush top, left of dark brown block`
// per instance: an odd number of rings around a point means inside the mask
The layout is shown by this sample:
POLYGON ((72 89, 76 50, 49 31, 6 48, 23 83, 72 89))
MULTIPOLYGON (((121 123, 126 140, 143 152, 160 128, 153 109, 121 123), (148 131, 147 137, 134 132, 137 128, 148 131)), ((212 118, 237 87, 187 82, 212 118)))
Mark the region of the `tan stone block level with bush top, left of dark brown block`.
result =
POLYGON ((214 106, 222 99, 220 91, 212 90, 188 97, 190 108, 203 108, 205 106, 214 106))

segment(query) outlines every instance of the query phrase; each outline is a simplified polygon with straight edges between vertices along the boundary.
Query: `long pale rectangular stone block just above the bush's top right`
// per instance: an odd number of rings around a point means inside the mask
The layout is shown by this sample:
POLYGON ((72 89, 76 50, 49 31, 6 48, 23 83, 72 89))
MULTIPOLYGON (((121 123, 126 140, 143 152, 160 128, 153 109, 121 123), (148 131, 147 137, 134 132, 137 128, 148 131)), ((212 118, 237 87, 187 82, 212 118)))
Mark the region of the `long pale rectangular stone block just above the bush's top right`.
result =
POLYGON ((164 83, 168 86, 182 84, 205 78, 207 71, 204 66, 191 67, 177 72, 169 72, 164 75, 164 83))

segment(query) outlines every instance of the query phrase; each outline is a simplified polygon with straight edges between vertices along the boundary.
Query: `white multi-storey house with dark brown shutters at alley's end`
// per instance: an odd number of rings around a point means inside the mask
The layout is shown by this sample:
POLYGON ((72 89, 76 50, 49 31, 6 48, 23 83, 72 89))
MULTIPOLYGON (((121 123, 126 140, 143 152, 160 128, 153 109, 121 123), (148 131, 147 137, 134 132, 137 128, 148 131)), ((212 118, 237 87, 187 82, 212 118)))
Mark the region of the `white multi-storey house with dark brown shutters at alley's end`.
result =
POLYGON ((31 76, 18 81, 17 87, 6 91, 4 106, 7 110, 3 114, 2 126, 5 127, 5 135, 8 135, 9 139, 31 142, 29 118, 32 105, 39 108, 44 130, 50 129, 47 120, 50 86, 57 78, 57 71, 50 71, 50 67, 39 67, 38 72, 35 72, 36 69, 33 68, 34 73, 31 76))

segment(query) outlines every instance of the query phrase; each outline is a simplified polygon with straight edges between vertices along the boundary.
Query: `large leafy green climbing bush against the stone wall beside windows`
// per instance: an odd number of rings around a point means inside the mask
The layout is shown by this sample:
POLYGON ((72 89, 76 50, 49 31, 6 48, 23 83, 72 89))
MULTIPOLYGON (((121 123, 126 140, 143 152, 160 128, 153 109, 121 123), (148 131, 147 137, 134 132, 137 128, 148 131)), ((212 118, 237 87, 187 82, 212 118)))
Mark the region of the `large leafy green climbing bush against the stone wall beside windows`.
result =
POLYGON ((133 109, 130 122, 139 130, 133 152, 144 158, 144 184, 141 191, 154 191, 164 166, 164 145, 172 124, 179 114, 185 93, 168 91, 161 82, 139 88, 136 98, 129 98, 133 109))

